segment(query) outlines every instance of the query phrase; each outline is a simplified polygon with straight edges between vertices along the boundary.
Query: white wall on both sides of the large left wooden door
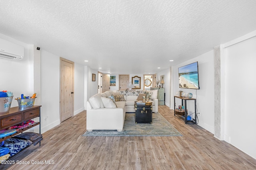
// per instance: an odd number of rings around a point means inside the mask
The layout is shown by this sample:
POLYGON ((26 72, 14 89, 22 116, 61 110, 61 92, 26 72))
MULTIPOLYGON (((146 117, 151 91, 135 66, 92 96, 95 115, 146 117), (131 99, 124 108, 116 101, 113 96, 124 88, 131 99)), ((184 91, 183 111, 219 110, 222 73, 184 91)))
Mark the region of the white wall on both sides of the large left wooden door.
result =
MULTIPOLYGON (((60 57, 41 51, 41 132, 60 124, 60 57)), ((74 64, 74 115, 84 110, 84 66, 74 64)))

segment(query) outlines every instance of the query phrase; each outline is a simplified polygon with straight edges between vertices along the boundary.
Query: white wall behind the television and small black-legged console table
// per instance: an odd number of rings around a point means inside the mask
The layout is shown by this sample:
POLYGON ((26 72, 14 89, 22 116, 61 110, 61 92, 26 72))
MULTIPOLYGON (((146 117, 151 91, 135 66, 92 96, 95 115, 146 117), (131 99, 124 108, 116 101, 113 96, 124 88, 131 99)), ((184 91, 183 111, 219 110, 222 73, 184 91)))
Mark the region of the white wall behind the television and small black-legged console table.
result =
MULTIPOLYGON (((198 113, 200 113, 198 114, 198 125, 214 133, 214 50, 173 66, 172 76, 173 82, 171 86, 173 86, 173 95, 176 95, 176 92, 179 90, 182 90, 186 94, 192 93, 193 98, 196 98, 198 113), (198 61, 200 89, 179 88, 178 68, 196 61, 198 61)), ((171 98, 173 98, 173 95, 171 98)), ((181 100, 176 99, 176 106, 178 107, 178 105, 181 105, 181 100)), ((174 109, 173 104, 171 104, 171 109, 174 109)), ((194 102, 187 101, 187 109, 188 114, 194 113, 194 102)), ((194 114, 192 114, 192 117, 194 117, 194 114)))

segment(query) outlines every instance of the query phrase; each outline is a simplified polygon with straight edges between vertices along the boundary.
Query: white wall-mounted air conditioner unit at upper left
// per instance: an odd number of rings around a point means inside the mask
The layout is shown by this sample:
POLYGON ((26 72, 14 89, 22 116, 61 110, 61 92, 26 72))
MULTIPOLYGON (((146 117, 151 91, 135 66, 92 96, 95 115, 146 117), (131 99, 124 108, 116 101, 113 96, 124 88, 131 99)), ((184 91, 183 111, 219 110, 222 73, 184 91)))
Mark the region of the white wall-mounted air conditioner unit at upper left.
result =
POLYGON ((24 47, 4 39, 0 39, 0 59, 22 60, 24 47))

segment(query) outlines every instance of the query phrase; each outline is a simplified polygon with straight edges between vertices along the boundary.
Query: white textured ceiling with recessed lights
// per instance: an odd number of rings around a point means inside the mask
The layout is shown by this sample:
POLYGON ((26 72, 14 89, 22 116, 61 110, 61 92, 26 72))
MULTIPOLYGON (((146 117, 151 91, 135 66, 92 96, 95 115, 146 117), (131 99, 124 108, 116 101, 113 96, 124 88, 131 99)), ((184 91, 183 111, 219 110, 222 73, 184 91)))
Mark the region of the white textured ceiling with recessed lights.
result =
POLYGON ((0 0, 0 33, 101 72, 154 74, 256 30, 255 9, 255 0, 0 0))

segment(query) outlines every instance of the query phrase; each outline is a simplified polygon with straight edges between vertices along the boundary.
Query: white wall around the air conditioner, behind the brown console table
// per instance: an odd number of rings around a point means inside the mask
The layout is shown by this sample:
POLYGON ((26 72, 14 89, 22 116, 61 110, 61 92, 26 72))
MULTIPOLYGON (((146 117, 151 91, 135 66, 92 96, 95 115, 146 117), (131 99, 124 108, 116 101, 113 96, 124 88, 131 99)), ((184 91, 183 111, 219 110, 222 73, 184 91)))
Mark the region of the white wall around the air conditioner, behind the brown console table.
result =
MULTIPOLYGON (((32 96, 34 92, 37 93, 35 105, 40 105, 40 92, 37 91, 38 88, 35 87, 38 82, 40 83, 37 79, 40 79, 40 72, 38 74, 38 72, 35 72, 36 69, 34 69, 34 64, 40 69, 40 66, 37 65, 37 60, 40 59, 40 57, 36 56, 36 59, 34 60, 34 55, 37 55, 38 51, 34 51, 34 45, 28 45, 3 34, 0 34, 0 38, 24 47, 23 60, 10 61, 0 59, 0 90, 13 92, 14 97, 11 107, 18 106, 18 102, 14 99, 19 98, 21 94, 24 94, 24 96, 32 96)), ((34 120, 39 121, 39 118, 35 118, 34 120)), ((28 131, 39 133, 39 126, 33 127, 28 131)))

